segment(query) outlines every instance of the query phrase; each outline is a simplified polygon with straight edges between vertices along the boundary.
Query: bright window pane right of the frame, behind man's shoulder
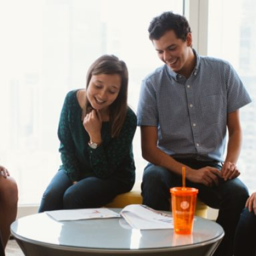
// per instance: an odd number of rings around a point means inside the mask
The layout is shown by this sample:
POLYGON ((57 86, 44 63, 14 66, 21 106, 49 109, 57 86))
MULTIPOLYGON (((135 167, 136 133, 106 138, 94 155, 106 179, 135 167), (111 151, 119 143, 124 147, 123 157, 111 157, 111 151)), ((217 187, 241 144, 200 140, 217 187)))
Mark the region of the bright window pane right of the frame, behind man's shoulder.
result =
POLYGON ((240 178, 251 192, 256 190, 255 8, 253 0, 209 0, 208 55, 228 60, 252 98, 252 103, 240 109, 243 144, 238 162, 240 178))

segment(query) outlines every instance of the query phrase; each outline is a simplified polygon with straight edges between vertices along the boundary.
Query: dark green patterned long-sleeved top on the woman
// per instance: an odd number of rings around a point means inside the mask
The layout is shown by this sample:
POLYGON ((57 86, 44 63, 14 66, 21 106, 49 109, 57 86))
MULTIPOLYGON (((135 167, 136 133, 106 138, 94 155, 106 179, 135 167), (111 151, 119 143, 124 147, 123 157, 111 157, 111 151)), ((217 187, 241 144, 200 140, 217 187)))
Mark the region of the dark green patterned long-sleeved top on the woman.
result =
POLYGON ((116 177, 133 186, 135 164, 132 140, 137 128, 135 113, 128 108, 124 127, 118 137, 112 138, 110 123, 103 122, 101 137, 103 142, 97 149, 88 146, 90 137, 85 130, 82 109, 76 98, 77 90, 70 91, 64 100, 58 125, 58 138, 62 165, 70 180, 95 176, 102 179, 116 177))

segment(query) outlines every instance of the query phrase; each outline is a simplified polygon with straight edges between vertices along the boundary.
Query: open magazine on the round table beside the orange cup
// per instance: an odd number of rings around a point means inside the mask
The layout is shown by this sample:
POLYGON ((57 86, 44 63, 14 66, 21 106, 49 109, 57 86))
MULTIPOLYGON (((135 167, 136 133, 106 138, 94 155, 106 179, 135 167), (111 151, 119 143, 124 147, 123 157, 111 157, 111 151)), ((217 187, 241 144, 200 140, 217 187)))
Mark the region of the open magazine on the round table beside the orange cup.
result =
POLYGON ((134 229, 173 229, 173 218, 169 214, 155 211, 146 205, 127 205, 120 215, 134 229))

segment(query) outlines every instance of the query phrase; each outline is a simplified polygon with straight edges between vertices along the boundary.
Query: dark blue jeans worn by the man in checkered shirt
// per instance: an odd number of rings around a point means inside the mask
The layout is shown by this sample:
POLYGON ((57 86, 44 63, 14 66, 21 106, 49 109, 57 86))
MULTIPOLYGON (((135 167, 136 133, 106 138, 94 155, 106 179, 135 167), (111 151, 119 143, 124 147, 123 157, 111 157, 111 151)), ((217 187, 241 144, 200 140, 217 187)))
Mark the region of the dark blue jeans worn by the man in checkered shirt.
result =
MULTIPOLYGON (((195 159, 178 161, 193 169, 200 169, 203 166, 221 169, 221 165, 215 161, 205 162, 195 159)), ((180 175, 176 175, 161 166, 149 164, 144 169, 141 184, 143 204, 154 209, 169 211, 171 198, 169 189, 180 186, 182 186, 180 175)), ((218 186, 212 187, 186 180, 186 186, 199 189, 198 198, 211 208, 219 209, 217 223, 223 227, 225 236, 214 255, 232 256, 236 225, 246 199, 249 197, 248 189, 238 178, 229 181, 220 179, 218 186)))

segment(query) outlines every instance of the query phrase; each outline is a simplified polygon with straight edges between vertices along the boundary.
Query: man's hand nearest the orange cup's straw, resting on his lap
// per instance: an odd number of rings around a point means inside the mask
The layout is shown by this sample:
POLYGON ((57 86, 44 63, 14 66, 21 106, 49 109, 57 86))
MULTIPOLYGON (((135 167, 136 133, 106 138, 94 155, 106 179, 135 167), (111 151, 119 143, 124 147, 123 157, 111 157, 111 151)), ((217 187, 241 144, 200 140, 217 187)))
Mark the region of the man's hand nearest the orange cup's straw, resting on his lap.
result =
POLYGON ((218 185, 218 177, 221 177, 220 170, 211 166, 206 166, 201 169, 189 169, 189 171, 187 171, 188 180, 195 183, 202 183, 208 187, 214 184, 218 185))

